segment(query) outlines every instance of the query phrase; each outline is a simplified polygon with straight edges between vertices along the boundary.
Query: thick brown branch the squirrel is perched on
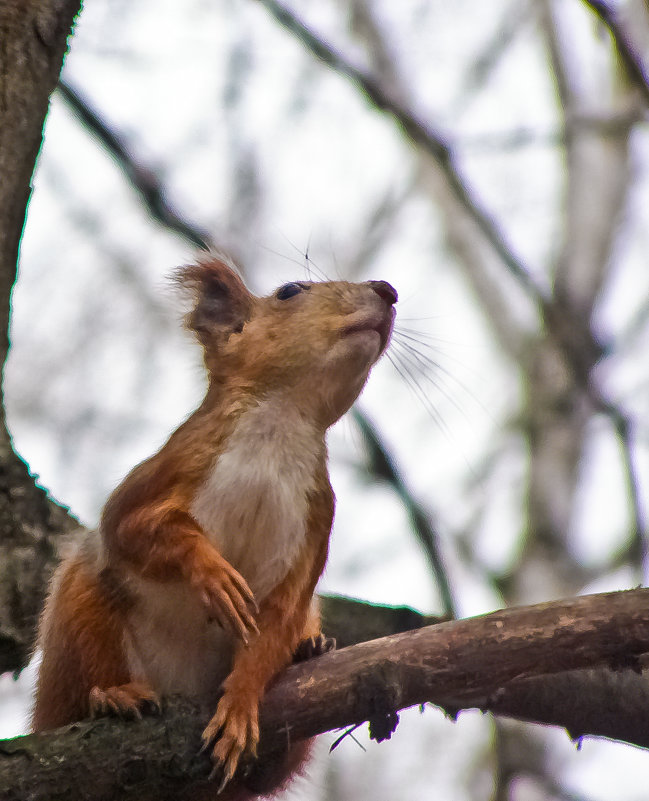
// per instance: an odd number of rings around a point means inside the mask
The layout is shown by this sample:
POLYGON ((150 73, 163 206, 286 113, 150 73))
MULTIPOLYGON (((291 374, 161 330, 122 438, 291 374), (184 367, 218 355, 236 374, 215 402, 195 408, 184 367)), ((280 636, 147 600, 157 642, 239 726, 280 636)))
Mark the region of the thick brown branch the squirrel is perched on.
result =
MULTIPOLYGON (((630 676, 647 652, 646 589, 508 609, 374 640, 282 675, 262 707, 262 753, 364 720, 375 732, 389 729, 397 710, 426 701, 511 715, 512 687, 524 695, 525 682, 597 666, 615 683, 613 670, 630 676)), ((573 713, 589 703, 575 691, 573 713)), ((563 708, 555 712, 546 722, 566 725, 563 708)), ((624 738, 649 746, 649 706, 629 712, 634 725, 624 738)), ((178 701, 161 718, 79 723, 0 743, 0 800, 50 799, 53 787, 56 797, 70 801, 176 798, 209 772, 207 757, 197 755, 208 714, 178 701)), ((593 725, 619 736, 617 718, 609 720, 605 709, 593 725)), ((572 736, 588 733, 571 728, 572 736)))

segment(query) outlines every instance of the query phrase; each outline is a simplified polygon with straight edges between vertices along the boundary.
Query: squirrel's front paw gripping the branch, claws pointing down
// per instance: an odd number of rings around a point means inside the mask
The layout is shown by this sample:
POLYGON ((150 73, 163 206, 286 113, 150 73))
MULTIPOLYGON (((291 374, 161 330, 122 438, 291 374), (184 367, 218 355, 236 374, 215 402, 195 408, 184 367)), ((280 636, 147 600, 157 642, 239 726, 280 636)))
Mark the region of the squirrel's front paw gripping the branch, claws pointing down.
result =
POLYGON ((214 768, 210 779, 221 777, 218 793, 234 776, 243 755, 255 757, 259 742, 259 720, 257 702, 246 701, 226 692, 216 708, 216 713, 203 732, 203 751, 212 743, 214 768))

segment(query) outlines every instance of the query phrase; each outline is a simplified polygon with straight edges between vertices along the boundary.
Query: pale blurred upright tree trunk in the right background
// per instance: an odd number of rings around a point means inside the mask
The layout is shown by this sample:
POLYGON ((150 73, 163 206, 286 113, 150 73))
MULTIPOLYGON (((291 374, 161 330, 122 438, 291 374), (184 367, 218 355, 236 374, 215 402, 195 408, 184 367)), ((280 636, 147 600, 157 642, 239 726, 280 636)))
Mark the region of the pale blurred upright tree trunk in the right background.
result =
MULTIPOLYGON (((592 349, 591 320, 626 202, 634 118, 627 114, 624 127, 610 130, 584 121, 592 101, 580 88, 569 34, 563 35, 552 0, 542 0, 538 7, 565 131, 561 151, 565 211, 550 266, 555 300, 547 309, 550 316, 557 309, 563 313, 548 326, 555 335, 560 332, 559 341, 542 332, 521 360, 527 379, 524 415, 530 447, 527 547, 552 554, 557 569, 565 574, 562 586, 577 589, 583 585, 584 570, 576 560, 564 558, 564 541, 573 518, 587 424, 603 402, 592 376, 598 354, 592 349), (591 202, 593 196, 596 203, 591 202)), ((628 105, 626 94, 622 91, 620 96, 619 90, 607 100, 603 115, 616 119, 620 107, 628 105)), ((639 520, 639 510, 636 517, 639 520)))

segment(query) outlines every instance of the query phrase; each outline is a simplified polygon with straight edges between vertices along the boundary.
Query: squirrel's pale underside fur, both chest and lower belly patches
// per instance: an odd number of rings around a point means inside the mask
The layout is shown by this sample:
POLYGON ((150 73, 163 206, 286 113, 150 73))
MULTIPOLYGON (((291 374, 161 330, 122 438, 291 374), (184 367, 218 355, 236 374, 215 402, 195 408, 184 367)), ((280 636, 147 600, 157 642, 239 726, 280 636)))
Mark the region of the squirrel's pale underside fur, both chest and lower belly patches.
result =
MULTIPOLYGON (((284 578, 306 536, 307 493, 322 437, 295 412, 267 401, 240 418, 190 511, 257 601, 284 578)), ((161 694, 204 701, 230 670, 231 635, 209 622, 192 588, 132 577, 137 603, 126 634, 134 678, 161 694)))

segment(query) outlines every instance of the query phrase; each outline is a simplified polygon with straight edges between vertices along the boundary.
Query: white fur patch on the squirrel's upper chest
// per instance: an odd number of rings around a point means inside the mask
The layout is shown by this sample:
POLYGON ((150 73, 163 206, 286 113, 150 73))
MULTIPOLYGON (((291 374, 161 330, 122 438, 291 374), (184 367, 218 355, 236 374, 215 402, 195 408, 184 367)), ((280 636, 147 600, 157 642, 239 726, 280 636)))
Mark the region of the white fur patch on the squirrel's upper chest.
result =
POLYGON ((245 412, 190 507, 210 540, 262 601, 304 544, 307 493, 322 437, 267 400, 245 412))

